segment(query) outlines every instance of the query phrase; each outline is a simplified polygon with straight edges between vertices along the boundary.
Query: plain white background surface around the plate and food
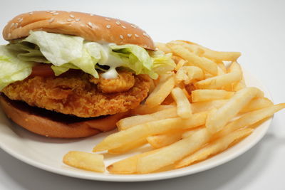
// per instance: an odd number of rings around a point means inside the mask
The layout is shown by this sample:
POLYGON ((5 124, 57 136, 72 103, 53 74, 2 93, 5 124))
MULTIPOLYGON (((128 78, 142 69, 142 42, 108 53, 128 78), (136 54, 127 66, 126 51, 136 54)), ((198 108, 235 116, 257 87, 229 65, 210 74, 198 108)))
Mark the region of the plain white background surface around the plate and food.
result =
MULTIPOLYGON (((243 68, 266 85, 275 103, 285 102, 285 1, 0 2, 1 30, 9 19, 28 11, 83 11, 135 23, 154 41, 184 39, 218 51, 240 51, 243 68)), ((163 181, 73 179, 31 167, 0 149, 0 189, 285 189, 284 113, 274 115, 261 142, 237 159, 199 174, 163 181)))

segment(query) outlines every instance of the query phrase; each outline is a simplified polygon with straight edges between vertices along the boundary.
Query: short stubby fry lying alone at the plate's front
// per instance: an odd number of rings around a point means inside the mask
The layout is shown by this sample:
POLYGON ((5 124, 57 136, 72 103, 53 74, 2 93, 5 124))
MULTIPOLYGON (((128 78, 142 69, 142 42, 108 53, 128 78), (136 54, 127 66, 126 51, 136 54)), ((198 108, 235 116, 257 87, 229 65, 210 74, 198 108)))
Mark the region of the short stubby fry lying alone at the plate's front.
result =
POLYGON ((104 172, 105 165, 102 154, 71 151, 63 156, 63 163, 78 169, 104 172))

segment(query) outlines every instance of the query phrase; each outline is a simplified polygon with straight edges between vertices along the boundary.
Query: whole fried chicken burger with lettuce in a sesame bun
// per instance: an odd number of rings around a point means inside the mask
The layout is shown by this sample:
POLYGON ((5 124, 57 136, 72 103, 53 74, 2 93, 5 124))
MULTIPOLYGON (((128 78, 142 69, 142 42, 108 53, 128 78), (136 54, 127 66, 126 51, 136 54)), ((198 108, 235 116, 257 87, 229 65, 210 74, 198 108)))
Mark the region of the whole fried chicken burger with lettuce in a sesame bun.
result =
POLYGON ((71 11, 33 11, 6 24, 0 105, 16 124, 46 137, 112 130, 175 66, 138 26, 71 11))

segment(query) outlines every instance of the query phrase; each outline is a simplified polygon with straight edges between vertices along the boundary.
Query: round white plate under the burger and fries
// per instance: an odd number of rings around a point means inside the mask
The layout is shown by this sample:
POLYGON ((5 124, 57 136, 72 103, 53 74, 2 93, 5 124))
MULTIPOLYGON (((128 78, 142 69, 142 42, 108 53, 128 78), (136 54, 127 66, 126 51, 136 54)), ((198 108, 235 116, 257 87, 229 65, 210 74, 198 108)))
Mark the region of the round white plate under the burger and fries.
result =
MULTIPOLYGON (((245 72, 245 79, 248 86, 255 86, 264 91, 266 97, 271 99, 269 92, 266 88, 252 75, 245 72)), ((66 152, 71 150, 81 150, 91 152, 93 146, 100 142, 111 132, 95 135, 94 137, 88 137, 85 139, 49 139, 41 137, 36 134, 32 134, 17 126, 11 120, 7 119, 4 112, 0 110, 0 147, 4 151, 11 154, 13 157, 20 159, 27 164, 31 164, 34 167, 51 171, 57 174, 63 174, 66 176, 73 176, 82 179, 92 179, 99 181, 152 181, 159 179, 170 179, 178 176, 185 176, 189 174, 195 174, 199 171, 204 171, 217 167, 220 164, 229 162, 230 160, 238 157, 246 152, 248 149, 257 144, 259 140, 264 137, 266 130, 271 123, 271 119, 264 122, 257 128, 249 137, 244 139, 234 147, 227 149, 221 154, 199 162, 190 167, 182 169, 175 169, 171 171, 163 171, 155 174, 140 174, 140 175, 118 175, 118 174, 101 174, 92 171, 84 171, 81 169, 75 169, 68 167, 61 162, 62 157, 66 152)), ((124 154, 119 156, 106 155, 105 164, 111 164, 119 159, 130 156, 131 154, 137 154, 142 152, 147 147, 136 152, 130 152, 130 154, 124 154)))

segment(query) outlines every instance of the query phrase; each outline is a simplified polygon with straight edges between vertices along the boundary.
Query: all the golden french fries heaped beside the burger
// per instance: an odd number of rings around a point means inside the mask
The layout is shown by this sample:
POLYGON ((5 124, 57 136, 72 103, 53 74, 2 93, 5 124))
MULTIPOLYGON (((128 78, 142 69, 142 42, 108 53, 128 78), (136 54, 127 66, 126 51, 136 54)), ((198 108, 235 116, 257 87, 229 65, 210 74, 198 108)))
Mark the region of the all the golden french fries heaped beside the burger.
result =
MULTIPOLYGON (((120 120, 118 132, 105 137, 93 152, 124 154, 142 146, 152 150, 110 164, 112 174, 147 174, 195 164, 247 137, 285 107, 246 86, 237 63, 240 53, 212 51, 188 41, 156 46, 172 53, 175 70, 154 80, 144 104, 120 120)), ((105 171, 103 154, 69 152, 63 162, 105 171)))

